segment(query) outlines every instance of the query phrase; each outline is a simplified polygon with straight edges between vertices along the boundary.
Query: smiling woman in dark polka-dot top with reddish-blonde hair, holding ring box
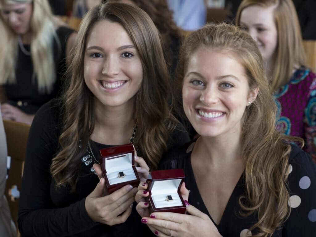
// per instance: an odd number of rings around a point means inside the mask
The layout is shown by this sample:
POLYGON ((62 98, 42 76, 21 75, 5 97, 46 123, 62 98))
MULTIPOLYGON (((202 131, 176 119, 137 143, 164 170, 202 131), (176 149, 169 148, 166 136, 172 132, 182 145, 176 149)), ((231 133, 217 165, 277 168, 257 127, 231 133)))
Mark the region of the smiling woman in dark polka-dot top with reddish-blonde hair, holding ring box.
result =
POLYGON ((311 236, 316 165, 276 130, 276 105, 261 53, 236 26, 191 33, 177 68, 179 99, 200 137, 168 153, 160 169, 183 168, 191 215, 136 209, 158 236, 311 236), (181 93, 182 91, 182 93, 181 93))

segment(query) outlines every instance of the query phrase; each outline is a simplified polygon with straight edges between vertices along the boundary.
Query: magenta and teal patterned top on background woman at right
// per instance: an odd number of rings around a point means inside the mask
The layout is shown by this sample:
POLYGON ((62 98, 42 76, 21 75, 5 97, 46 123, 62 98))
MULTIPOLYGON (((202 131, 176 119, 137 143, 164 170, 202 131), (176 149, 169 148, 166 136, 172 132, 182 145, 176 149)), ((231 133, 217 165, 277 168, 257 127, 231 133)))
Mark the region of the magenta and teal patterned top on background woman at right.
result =
POLYGON ((279 109, 277 129, 301 137, 316 162, 316 75, 301 67, 275 94, 279 109))

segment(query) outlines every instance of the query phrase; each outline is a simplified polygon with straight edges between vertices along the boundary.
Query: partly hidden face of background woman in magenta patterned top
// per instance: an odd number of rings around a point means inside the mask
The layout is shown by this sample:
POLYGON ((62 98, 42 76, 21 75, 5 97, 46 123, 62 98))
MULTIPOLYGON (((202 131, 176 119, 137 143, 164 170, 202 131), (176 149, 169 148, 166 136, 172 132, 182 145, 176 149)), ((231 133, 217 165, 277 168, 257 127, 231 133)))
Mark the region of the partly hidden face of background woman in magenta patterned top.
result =
POLYGON ((275 6, 249 6, 240 14, 240 26, 257 42, 265 61, 269 61, 276 52, 277 29, 274 20, 275 6))

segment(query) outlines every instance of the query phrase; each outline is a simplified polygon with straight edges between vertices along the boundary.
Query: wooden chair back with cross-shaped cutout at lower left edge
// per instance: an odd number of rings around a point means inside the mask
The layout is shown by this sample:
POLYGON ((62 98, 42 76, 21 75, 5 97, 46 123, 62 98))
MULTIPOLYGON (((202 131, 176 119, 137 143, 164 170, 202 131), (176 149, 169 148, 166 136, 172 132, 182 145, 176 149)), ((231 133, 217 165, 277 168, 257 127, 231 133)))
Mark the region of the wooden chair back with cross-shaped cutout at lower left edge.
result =
MULTIPOLYGON (((21 190, 26 144, 30 125, 3 119, 7 138, 8 155, 11 156, 9 176, 5 186, 12 220, 17 227, 19 198, 21 190)), ((18 233, 20 236, 20 233, 18 233)))

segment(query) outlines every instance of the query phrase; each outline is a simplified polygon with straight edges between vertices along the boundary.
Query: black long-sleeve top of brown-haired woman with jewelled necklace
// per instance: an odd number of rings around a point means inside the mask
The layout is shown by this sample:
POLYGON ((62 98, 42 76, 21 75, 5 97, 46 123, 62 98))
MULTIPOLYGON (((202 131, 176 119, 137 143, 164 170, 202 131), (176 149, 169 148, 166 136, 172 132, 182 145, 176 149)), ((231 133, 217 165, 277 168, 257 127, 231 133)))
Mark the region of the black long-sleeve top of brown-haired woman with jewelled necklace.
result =
MULTIPOLYGON (((141 226, 140 217, 135 213, 136 205, 128 220, 115 226, 96 223, 88 216, 85 199, 99 182, 97 175, 91 174, 90 166, 82 163, 75 192, 71 193, 69 187, 56 190, 50 166, 52 158, 59 151, 59 116, 58 104, 52 100, 42 106, 33 119, 27 142, 19 206, 18 226, 21 235, 134 236, 137 233, 135 218, 139 218, 136 223, 141 226)), ((188 135, 179 130, 172 137, 171 147, 189 141, 188 135)), ((100 143, 95 143, 95 146, 97 149, 109 147, 100 143)))

